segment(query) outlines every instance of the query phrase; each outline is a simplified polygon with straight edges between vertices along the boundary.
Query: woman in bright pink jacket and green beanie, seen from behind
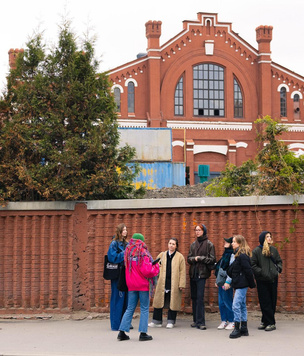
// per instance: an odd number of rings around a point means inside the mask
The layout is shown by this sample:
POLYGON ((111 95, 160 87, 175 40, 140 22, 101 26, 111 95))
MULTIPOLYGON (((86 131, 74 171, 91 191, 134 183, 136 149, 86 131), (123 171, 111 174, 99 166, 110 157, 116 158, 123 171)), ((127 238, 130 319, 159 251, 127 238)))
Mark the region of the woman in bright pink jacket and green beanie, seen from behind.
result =
POLYGON ((147 334, 149 320, 150 295, 159 273, 158 263, 152 264, 153 258, 144 243, 142 234, 134 234, 125 250, 126 282, 128 286, 128 307, 119 326, 119 341, 129 340, 126 332, 130 331, 133 314, 140 301, 139 341, 152 340, 147 334))

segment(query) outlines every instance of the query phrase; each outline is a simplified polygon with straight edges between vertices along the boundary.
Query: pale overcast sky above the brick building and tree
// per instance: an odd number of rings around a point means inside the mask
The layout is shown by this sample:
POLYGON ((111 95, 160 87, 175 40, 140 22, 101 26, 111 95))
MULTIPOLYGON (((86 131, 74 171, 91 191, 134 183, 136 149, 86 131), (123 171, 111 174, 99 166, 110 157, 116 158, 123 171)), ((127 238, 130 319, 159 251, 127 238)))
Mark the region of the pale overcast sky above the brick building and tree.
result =
POLYGON ((163 44, 182 31, 183 20, 196 20, 198 12, 218 13, 220 22, 231 22, 233 31, 255 48, 255 28, 273 26, 272 60, 304 76, 303 0, 15 0, 1 4, 0 89, 9 49, 24 47, 38 28, 48 45, 55 43, 65 14, 77 35, 89 30, 97 36, 96 56, 105 71, 146 51, 147 21, 162 21, 163 44))

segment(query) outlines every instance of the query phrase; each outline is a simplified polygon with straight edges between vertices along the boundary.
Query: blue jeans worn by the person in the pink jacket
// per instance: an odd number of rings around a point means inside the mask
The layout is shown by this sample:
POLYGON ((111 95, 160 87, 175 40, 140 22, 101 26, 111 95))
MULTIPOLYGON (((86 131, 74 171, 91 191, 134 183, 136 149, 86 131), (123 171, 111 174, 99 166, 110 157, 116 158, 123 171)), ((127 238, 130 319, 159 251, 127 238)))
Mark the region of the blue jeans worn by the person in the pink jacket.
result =
POLYGON ((140 319, 138 331, 140 333, 146 333, 148 331, 148 321, 149 321, 149 305, 150 297, 149 291, 139 292, 139 291, 129 291, 128 292, 128 307, 125 311, 119 330, 129 332, 132 323, 133 314, 137 306, 138 300, 140 302, 140 319))

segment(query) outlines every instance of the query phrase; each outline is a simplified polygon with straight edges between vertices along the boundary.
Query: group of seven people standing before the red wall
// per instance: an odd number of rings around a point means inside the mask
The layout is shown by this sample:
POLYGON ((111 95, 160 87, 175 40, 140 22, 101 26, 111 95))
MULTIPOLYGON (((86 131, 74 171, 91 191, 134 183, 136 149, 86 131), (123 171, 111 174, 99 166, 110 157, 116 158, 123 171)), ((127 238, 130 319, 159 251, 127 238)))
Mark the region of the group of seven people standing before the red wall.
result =
MULTIPOLYGON (((224 238, 224 252, 216 261, 215 248, 208 239, 203 224, 195 226, 195 241, 191 244, 187 262, 190 265, 190 292, 193 323, 191 327, 206 330, 204 294, 206 280, 214 270, 221 315, 219 330, 232 330, 231 339, 248 336, 246 295, 248 288, 257 287, 262 311, 260 330, 276 329, 275 310, 278 275, 282 259, 273 246, 272 235, 263 231, 259 245, 251 252, 242 235, 224 238), (221 280, 221 282, 220 282, 221 280)), ((117 339, 129 340, 135 308, 140 302, 139 340, 149 341, 148 327, 162 327, 163 309, 168 309, 166 328, 172 329, 181 309, 182 290, 186 286, 186 263, 178 251, 178 240, 170 238, 168 249, 154 260, 142 234, 135 233, 128 241, 127 227, 120 224, 108 250, 108 260, 125 265, 128 292, 118 289, 118 279, 111 280, 111 329, 119 331, 117 339), (153 317, 149 323, 150 297, 153 317)))

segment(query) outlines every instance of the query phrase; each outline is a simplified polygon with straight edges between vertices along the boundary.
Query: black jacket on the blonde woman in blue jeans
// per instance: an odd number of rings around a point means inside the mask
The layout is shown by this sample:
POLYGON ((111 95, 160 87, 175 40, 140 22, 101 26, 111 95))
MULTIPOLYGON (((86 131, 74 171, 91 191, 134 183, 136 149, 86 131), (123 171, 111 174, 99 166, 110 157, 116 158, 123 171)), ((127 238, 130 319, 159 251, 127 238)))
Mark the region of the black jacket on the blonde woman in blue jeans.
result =
POLYGON ((229 266, 227 274, 232 279, 231 287, 234 289, 255 287, 250 257, 245 253, 241 253, 235 258, 234 262, 229 266))

